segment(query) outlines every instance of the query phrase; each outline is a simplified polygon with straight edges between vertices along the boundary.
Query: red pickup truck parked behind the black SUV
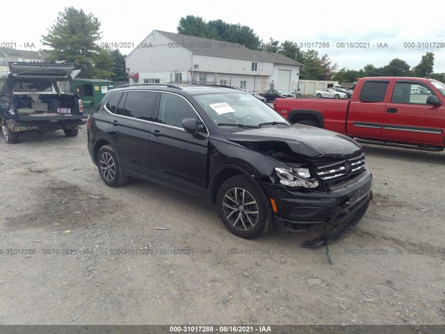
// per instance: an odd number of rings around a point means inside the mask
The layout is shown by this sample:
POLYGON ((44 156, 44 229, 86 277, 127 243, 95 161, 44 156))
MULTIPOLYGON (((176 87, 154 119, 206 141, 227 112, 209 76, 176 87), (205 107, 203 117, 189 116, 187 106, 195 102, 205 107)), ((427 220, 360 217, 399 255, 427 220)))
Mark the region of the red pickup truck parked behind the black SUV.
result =
POLYGON ((432 79, 359 79, 351 100, 276 99, 290 122, 322 127, 362 142, 420 150, 445 148, 445 85, 432 79))

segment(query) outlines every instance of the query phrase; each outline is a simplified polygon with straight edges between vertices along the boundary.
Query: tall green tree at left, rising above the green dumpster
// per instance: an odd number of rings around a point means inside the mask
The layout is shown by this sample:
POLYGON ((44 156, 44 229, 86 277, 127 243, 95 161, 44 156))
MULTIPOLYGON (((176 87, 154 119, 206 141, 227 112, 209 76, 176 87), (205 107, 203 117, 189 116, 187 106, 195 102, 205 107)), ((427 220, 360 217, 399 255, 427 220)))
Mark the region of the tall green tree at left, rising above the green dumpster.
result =
POLYGON ((101 38, 99 19, 74 7, 58 13, 56 23, 42 35, 42 44, 52 48, 51 61, 72 63, 82 70, 81 77, 88 78, 94 59, 100 52, 97 45, 101 38))

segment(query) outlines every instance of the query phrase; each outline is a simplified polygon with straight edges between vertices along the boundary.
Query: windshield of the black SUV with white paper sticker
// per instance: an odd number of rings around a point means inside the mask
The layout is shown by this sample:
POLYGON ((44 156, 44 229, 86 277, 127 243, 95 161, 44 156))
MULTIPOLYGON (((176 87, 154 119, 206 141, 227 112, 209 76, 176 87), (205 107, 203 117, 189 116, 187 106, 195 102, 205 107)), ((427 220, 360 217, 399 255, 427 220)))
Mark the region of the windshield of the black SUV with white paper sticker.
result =
POLYGON ((282 116, 270 106, 247 93, 217 93, 194 95, 207 115, 224 131, 238 128, 238 125, 259 126, 266 122, 285 122, 282 116), (224 124, 224 125, 223 125, 224 124), (227 124, 233 125, 232 127, 227 124))

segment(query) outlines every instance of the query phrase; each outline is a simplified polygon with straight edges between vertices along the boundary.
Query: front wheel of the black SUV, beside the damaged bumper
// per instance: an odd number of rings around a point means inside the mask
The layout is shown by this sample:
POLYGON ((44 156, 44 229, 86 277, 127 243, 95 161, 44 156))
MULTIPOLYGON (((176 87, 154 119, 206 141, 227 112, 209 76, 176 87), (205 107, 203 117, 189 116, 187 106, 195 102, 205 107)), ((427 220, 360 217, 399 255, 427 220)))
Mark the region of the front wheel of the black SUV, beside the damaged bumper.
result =
POLYGON ((216 206, 226 228, 238 237, 259 237, 268 226, 266 198, 243 175, 230 177, 220 186, 216 206))

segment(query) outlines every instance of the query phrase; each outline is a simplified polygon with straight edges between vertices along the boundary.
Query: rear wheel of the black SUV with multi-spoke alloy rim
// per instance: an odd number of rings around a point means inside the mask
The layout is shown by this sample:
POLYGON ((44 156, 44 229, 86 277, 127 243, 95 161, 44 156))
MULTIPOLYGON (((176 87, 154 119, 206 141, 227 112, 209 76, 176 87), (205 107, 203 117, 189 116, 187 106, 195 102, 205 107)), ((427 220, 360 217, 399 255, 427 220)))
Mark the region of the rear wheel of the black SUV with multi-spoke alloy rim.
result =
POLYGON ((97 153, 97 169, 107 186, 122 186, 128 181, 128 176, 122 174, 118 156, 110 145, 102 146, 97 153))

